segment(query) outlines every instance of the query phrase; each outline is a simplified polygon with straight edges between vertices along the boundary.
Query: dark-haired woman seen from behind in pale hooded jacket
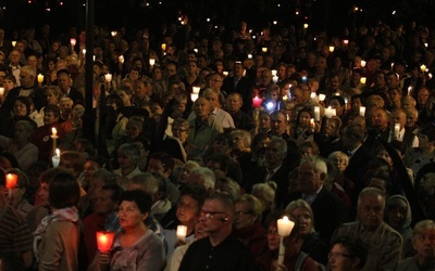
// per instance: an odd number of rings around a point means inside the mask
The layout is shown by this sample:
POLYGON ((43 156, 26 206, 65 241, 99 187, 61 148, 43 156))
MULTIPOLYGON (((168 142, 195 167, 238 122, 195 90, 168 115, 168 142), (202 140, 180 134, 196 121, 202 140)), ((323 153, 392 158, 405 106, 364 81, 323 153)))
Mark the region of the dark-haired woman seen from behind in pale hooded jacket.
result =
POLYGON ((78 270, 80 221, 77 204, 80 188, 67 172, 58 172, 49 184, 52 214, 42 219, 34 233, 34 249, 39 270, 78 270))

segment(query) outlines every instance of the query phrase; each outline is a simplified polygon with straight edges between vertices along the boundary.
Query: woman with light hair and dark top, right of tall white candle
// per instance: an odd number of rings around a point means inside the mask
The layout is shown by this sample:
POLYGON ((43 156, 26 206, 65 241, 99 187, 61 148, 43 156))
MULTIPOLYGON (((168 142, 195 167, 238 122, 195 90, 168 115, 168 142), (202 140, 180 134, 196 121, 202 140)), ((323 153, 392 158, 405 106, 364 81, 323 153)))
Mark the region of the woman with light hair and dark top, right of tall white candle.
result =
POLYGON ((314 231, 314 215, 310 205, 303 199, 291 202, 286 207, 286 211, 291 214, 299 222, 298 246, 301 251, 322 264, 327 263, 327 245, 319 238, 314 231))

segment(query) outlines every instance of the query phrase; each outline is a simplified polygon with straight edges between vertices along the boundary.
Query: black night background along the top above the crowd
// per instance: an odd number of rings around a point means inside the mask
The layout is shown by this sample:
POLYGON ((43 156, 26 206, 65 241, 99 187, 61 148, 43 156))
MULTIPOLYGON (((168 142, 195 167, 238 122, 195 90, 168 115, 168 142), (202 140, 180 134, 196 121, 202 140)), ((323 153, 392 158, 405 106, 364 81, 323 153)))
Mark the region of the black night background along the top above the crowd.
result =
MULTIPOLYGON (((28 26, 38 29, 44 23, 51 25, 54 35, 67 31, 71 26, 84 29, 85 3, 85 0, 1 0, 0 26, 7 29, 7 35, 28 26)), ((380 21, 391 26, 407 26, 411 21, 435 26, 431 17, 435 14, 434 0, 95 0, 95 4, 96 25, 112 28, 158 30, 163 23, 175 23, 179 12, 190 17, 194 27, 201 26, 206 17, 226 28, 235 28, 243 20, 256 28, 276 20, 278 25, 307 22, 311 29, 326 28, 330 35, 339 34, 344 26, 350 29, 363 24, 373 26, 380 21), (360 10, 356 12, 355 7, 360 10)))

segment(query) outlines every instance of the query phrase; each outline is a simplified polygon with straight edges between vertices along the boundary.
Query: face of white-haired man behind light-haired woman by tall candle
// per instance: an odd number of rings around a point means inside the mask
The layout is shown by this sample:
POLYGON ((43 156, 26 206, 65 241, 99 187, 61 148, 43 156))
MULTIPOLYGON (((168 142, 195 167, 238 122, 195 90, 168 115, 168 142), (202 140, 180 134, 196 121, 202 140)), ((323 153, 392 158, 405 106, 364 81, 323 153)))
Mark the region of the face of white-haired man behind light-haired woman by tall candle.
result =
POLYGON ((323 185, 324 179, 325 175, 318 173, 312 163, 306 162, 299 166, 298 183, 303 194, 311 195, 315 193, 323 185))

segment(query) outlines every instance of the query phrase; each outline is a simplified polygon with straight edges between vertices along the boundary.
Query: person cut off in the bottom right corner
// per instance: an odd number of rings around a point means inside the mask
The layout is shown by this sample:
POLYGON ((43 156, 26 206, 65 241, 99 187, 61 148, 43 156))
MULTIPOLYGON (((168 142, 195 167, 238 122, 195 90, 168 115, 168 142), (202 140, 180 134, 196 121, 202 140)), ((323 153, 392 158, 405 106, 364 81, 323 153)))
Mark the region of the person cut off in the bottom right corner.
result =
POLYGON ((400 261, 396 271, 435 270, 435 222, 433 220, 423 220, 415 224, 412 245, 417 255, 400 261))

